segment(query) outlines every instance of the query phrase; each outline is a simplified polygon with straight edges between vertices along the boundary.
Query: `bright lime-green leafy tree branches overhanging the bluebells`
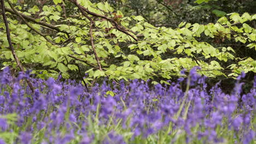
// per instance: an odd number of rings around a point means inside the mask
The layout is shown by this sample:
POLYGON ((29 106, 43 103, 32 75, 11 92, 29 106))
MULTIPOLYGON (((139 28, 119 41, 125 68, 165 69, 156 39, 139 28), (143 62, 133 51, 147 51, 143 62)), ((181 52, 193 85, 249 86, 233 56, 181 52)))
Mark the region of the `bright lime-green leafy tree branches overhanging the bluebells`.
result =
MULTIPOLYGON (((14 0, 5 5, 15 51, 24 67, 41 78, 59 73, 68 78, 79 65, 87 69, 88 83, 106 76, 168 83, 172 76, 181 76, 182 69, 195 66, 208 77, 256 73, 255 59, 236 57, 232 46, 223 45, 235 41, 255 52, 256 30, 250 24, 255 14, 231 13, 216 23, 181 22, 170 28, 155 27, 142 16, 124 16, 107 2, 55 0, 27 11, 14 0), (66 14, 71 8, 67 5, 75 5, 72 15, 66 14)), ((4 66, 16 68, 2 17, 0 21, 0 58, 9 60, 4 66)))

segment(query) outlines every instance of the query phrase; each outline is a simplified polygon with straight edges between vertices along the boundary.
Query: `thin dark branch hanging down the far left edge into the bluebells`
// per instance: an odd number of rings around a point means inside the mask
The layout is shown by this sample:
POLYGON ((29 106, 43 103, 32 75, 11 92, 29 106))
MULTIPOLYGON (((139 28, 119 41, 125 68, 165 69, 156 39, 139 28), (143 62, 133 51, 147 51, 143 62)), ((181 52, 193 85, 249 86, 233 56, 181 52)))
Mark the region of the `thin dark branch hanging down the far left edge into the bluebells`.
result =
MULTIPOLYGON (((10 46, 9 49, 11 50, 11 53, 13 54, 13 57, 15 59, 15 62, 17 63, 17 66, 24 73, 24 68, 22 67, 19 57, 16 55, 16 53, 14 51, 13 44, 11 43, 10 29, 9 29, 9 25, 8 25, 8 21, 7 21, 7 16, 5 15, 5 9, 4 9, 4 0, 1 0, 1 9, 2 9, 2 15, 3 15, 5 28, 6 28, 7 40, 8 40, 9 46, 10 46)), ((32 93, 34 93, 34 88, 32 86, 31 81, 29 79, 26 79, 26 82, 27 82, 27 85, 30 87, 32 93)))

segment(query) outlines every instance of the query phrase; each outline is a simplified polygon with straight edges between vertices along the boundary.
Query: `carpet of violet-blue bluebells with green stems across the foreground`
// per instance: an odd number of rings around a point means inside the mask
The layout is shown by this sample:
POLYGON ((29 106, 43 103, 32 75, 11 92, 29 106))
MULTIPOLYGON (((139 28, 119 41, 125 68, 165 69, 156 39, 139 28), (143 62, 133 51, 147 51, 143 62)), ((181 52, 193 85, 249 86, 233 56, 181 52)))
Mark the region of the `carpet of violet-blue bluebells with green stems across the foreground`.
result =
POLYGON ((231 94, 218 84, 207 91, 207 77, 196 68, 170 86, 133 80, 96 83, 87 91, 61 77, 13 77, 7 68, 0 73, 0 144, 251 143, 256 77, 251 91, 241 94, 243 77, 237 77, 231 94), (24 79, 33 83, 34 93, 24 79), (181 83, 190 88, 184 91, 181 83))

